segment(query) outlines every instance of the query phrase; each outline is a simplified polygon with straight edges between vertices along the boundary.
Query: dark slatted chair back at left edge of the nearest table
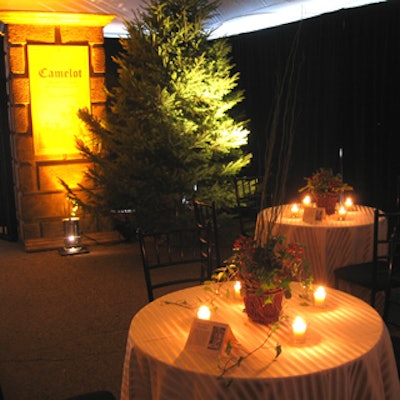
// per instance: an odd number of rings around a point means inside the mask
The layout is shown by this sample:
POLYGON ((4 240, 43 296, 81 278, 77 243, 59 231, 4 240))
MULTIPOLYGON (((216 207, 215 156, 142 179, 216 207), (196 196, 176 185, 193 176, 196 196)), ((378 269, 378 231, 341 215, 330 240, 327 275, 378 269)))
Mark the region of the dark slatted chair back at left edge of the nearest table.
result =
POLYGON ((137 235, 149 301, 156 294, 165 294, 160 290, 155 293, 156 289, 176 290, 183 284, 201 284, 210 279, 210 253, 201 251, 197 228, 155 233, 138 230, 137 235))

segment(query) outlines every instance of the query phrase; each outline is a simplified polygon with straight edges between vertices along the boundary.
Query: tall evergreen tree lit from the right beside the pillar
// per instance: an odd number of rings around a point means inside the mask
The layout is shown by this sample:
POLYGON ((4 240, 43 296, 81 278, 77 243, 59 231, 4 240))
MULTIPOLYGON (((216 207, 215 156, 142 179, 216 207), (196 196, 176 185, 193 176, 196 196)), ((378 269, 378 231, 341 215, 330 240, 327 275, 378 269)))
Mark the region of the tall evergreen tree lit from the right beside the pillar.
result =
POLYGON ((92 162, 81 186, 84 207, 109 213, 132 208, 137 224, 154 228, 171 218, 194 188, 202 200, 229 207, 232 177, 250 160, 246 121, 231 110, 243 99, 236 89, 230 46, 210 41, 206 21, 216 1, 151 0, 126 23, 128 37, 114 58, 119 84, 108 91, 99 120, 79 115, 93 143, 78 143, 92 162), (98 143, 98 145, 94 145, 98 143))

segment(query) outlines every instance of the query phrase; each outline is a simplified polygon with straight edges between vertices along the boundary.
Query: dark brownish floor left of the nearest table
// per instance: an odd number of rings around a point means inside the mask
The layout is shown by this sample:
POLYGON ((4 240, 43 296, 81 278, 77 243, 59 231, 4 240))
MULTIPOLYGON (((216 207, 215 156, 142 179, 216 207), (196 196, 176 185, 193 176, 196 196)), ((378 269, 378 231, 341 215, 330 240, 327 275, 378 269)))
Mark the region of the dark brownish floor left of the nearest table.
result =
MULTIPOLYGON (((222 235, 225 254, 232 235, 222 235)), ((146 303, 135 243, 63 257, 0 240, 4 399, 63 400, 95 390, 118 398, 129 324, 146 303)))

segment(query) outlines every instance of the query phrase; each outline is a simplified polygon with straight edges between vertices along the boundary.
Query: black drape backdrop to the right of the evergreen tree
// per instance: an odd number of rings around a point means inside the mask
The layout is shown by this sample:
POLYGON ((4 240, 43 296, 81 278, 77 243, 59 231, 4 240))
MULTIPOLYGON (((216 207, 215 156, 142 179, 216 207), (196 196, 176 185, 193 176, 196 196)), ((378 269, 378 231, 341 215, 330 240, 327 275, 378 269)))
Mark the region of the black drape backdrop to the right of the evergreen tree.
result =
POLYGON ((248 172, 263 172, 277 82, 299 35, 299 89, 288 201, 319 167, 340 172, 358 201, 391 209, 400 175, 400 4, 381 3, 229 38, 250 119, 248 172))

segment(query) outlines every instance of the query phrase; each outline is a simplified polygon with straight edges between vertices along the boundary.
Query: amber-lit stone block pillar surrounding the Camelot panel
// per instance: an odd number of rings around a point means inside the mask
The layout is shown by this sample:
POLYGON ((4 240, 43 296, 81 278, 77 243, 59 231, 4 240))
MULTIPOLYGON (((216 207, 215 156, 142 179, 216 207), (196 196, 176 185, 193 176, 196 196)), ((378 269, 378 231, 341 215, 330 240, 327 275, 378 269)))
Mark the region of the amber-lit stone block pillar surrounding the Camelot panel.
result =
MULTIPOLYGON (((0 21, 1 17, 0 13, 0 21)), ((87 20, 88 17, 85 16, 84 21, 87 20)), ((90 60, 91 111, 101 116, 105 111, 106 101, 103 26, 95 26, 93 23, 89 26, 75 23, 63 25, 62 19, 55 19, 54 25, 48 22, 41 24, 40 20, 28 25, 18 23, 18 18, 17 21, 11 18, 11 22, 8 23, 7 19, 3 18, 3 22, 19 237, 25 242, 30 239, 59 238, 63 235, 62 218, 69 216, 69 204, 62 186, 55 178, 83 175, 87 165, 86 161, 79 157, 52 158, 35 155, 27 46, 87 45, 90 60)), ((100 223, 84 214, 78 215, 83 232, 109 229, 104 221, 100 223)))

